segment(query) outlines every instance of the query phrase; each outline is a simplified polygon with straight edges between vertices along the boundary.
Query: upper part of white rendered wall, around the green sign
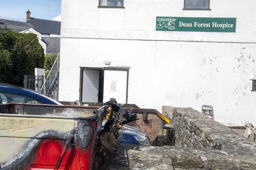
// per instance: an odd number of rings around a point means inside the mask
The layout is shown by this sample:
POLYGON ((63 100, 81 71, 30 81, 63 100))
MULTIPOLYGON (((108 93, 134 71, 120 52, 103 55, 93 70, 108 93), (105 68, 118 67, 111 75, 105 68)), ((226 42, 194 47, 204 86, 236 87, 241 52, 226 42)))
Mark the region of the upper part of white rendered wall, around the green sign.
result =
POLYGON ((98 8, 98 1, 62 0, 61 37, 246 42, 256 41, 256 1, 214 0, 211 11, 182 10, 183 0, 124 0, 125 8, 98 8), (156 16, 234 17, 236 33, 165 32, 156 16))

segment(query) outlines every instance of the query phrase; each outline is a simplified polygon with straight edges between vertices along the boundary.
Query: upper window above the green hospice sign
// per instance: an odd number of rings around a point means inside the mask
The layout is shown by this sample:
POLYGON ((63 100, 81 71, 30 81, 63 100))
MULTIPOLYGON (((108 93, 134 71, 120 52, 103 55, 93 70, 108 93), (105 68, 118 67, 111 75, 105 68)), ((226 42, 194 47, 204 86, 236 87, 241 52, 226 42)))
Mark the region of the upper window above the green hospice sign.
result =
POLYGON ((185 10, 209 10, 210 0, 184 0, 185 10))

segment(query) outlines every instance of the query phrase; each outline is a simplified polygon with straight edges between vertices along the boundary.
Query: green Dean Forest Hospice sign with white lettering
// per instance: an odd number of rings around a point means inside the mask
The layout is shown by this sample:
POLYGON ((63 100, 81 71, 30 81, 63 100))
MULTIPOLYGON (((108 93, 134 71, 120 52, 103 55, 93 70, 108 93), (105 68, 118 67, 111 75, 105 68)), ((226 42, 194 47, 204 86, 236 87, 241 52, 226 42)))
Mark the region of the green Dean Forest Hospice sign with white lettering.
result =
POLYGON ((156 31, 236 32, 236 18, 157 17, 156 31))

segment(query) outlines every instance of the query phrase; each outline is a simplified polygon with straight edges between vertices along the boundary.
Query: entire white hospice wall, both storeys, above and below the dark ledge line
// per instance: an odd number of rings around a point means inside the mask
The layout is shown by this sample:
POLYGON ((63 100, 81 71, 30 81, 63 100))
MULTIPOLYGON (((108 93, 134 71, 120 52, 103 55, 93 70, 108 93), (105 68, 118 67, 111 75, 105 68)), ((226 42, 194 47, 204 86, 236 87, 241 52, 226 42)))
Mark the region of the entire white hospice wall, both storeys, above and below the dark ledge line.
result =
POLYGON ((120 9, 63 0, 59 100, 79 99, 79 67, 110 61, 111 67, 130 67, 128 103, 159 111, 162 105, 201 111, 207 104, 221 123, 256 124, 250 80, 256 74, 255 5, 215 0, 211 11, 185 11, 182 0, 125 0, 120 9), (237 29, 155 31, 156 16, 235 17, 237 29))

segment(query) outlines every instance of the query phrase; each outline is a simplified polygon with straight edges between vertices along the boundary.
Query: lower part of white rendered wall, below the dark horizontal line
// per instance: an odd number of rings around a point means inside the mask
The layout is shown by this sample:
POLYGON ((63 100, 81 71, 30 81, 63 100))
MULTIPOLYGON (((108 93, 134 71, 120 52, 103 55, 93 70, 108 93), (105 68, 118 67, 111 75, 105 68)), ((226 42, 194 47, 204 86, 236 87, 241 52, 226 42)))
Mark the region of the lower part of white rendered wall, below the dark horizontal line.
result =
POLYGON ((60 70, 61 101, 79 99, 79 66, 106 67, 108 60, 131 68, 128 103, 160 111, 162 105, 200 111, 207 104, 214 107, 215 120, 227 125, 256 120, 250 80, 256 45, 66 38, 61 43, 73 49, 62 51, 73 57, 62 57, 68 67, 60 70))

